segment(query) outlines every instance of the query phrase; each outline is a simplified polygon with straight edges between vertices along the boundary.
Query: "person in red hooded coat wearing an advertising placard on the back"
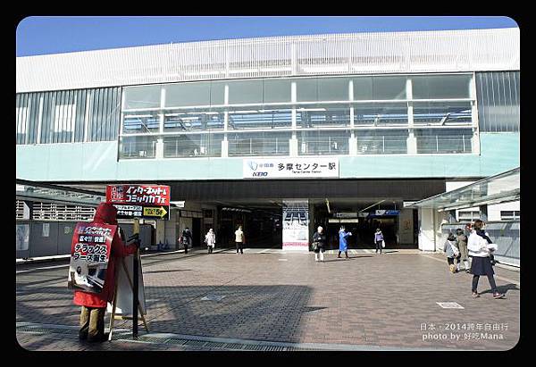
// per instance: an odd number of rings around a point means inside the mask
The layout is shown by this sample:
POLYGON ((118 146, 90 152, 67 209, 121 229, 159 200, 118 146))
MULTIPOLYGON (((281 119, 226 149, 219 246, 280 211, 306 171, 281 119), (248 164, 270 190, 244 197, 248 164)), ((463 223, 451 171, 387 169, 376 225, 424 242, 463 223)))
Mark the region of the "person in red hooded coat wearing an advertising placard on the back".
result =
MULTIPOLYGON (((95 266, 95 271, 98 273, 98 276, 91 275, 90 271, 88 274, 83 274, 86 279, 91 280, 90 287, 78 284, 76 279, 71 277, 69 280, 70 288, 75 289, 73 303, 81 306, 80 340, 88 339, 90 342, 96 342, 107 339, 105 311, 107 302, 113 300, 115 263, 121 257, 135 254, 138 246, 138 238, 135 238, 133 245, 123 244, 117 226, 117 209, 112 204, 99 204, 93 221, 77 224, 72 238, 71 268, 73 264, 83 261, 88 263, 88 268, 95 266)), ((79 270, 78 266, 73 269, 76 269, 77 273, 83 271, 82 268, 79 270)), ((77 274, 78 277, 80 275, 77 274)))

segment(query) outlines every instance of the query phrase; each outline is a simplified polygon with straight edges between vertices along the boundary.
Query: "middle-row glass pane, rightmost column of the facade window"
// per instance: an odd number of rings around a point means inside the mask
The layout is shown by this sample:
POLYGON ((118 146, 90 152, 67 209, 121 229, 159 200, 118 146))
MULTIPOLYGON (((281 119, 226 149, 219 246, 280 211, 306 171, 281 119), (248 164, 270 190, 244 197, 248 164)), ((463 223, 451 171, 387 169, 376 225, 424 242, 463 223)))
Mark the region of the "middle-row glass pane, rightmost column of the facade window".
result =
POLYGON ((415 125, 471 125, 471 102, 415 102, 415 125))

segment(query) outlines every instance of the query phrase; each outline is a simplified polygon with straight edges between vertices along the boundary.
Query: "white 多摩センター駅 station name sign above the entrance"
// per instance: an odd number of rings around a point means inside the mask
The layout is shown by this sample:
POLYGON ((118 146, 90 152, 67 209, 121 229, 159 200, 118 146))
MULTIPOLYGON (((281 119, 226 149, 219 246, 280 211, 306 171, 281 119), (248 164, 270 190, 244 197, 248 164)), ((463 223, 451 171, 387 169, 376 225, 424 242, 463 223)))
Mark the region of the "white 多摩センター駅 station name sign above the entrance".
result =
POLYGON ((244 179, 339 178, 339 158, 245 158, 244 179))

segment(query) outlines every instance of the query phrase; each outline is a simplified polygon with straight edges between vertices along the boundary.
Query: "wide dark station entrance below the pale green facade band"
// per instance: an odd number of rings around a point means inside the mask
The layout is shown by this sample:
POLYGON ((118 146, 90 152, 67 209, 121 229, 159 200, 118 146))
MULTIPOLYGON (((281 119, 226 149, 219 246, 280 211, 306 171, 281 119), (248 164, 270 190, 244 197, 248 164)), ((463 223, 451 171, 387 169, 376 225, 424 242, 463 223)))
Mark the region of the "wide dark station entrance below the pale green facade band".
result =
MULTIPOLYGON (((91 185, 104 191, 105 184, 91 185)), ((232 248, 239 225, 247 248, 281 249, 290 244, 307 250, 318 225, 325 229, 331 249, 339 248, 340 225, 353 234, 348 240, 351 249, 375 248, 377 228, 387 248, 418 248, 417 211, 406 204, 443 193, 446 187, 445 179, 214 179, 157 184, 170 186, 171 202, 181 203, 172 207, 170 221, 155 223, 153 246, 162 242, 172 249, 182 248, 178 238, 186 227, 193 232, 193 247, 204 247, 205 233, 212 228, 216 246, 232 248)), ((80 188, 85 186, 80 183, 80 188)))

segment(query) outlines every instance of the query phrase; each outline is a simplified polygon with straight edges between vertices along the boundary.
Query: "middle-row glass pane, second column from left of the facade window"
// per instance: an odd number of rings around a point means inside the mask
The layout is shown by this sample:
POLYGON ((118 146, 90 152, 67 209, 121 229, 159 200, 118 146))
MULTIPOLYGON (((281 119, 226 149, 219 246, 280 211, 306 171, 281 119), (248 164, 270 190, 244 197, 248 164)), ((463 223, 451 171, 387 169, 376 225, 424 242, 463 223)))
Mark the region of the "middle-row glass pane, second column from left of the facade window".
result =
POLYGON ((163 131, 198 131, 223 129, 223 112, 170 112, 163 116, 163 131))

